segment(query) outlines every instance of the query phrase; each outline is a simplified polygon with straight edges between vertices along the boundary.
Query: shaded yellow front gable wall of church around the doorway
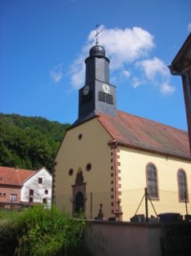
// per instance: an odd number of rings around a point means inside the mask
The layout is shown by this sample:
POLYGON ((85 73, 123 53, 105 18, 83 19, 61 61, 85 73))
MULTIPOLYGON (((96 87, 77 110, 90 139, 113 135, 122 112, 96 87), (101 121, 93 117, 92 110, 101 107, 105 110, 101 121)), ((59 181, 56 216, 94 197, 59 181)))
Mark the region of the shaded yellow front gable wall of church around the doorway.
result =
POLYGON ((54 192, 57 206, 65 207, 72 213, 73 185, 77 171, 81 169, 86 183, 86 217, 94 219, 100 203, 103 204, 105 218, 112 215, 110 140, 110 135, 97 119, 68 130, 55 158, 54 192), (92 169, 88 172, 86 165, 89 163, 92 169), (70 169, 74 170, 71 176, 70 169))

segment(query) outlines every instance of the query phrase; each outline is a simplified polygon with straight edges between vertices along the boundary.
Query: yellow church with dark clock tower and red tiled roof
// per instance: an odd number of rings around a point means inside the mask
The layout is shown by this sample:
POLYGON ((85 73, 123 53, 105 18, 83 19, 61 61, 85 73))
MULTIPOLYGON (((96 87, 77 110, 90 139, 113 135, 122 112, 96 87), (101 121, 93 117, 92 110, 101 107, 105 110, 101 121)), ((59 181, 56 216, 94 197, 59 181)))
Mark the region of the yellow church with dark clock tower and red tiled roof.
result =
POLYGON ((55 157, 53 197, 60 208, 87 219, 130 221, 191 212, 191 157, 188 133, 117 110, 109 58, 96 43, 85 59, 85 85, 78 93, 78 118, 55 157), (140 207, 138 207, 140 206, 140 207))

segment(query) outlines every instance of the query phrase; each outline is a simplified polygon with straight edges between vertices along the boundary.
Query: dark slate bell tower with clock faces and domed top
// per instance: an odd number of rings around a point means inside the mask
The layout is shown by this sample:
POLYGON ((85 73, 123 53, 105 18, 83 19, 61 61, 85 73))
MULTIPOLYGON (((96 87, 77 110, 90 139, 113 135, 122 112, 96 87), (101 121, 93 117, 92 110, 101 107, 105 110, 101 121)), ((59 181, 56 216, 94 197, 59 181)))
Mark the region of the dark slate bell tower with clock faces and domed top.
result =
POLYGON ((110 84, 110 60, 105 56, 105 49, 96 41, 85 59, 85 85, 78 93, 78 119, 74 125, 82 123, 97 112, 116 116, 116 86, 110 84))

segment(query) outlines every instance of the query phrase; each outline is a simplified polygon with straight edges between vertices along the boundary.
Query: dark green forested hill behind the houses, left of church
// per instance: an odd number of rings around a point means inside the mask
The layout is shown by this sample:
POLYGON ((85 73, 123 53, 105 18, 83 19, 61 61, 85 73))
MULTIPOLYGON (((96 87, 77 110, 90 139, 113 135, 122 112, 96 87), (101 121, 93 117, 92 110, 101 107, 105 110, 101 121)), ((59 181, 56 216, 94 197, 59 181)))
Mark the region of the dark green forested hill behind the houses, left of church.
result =
POLYGON ((53 158, 69 124, 0 113, 0 166, 53 170, 53 158))

